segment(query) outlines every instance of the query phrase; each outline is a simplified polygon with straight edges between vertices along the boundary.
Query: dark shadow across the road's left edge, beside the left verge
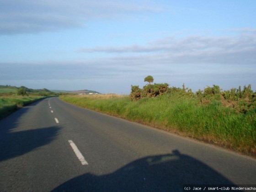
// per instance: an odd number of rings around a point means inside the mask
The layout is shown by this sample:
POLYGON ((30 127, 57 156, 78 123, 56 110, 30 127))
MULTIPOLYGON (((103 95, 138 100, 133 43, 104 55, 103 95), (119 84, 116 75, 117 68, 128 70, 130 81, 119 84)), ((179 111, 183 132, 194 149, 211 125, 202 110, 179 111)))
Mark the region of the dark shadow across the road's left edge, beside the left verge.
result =
MULTIPOLYGON (((31 106, 37 105, 37 102, 31 106)), ((30 107, 24 107, 0 120, 0 161, 26 154, 38 147, 49 144, 58 135, 56 126, 17 130, 19 120, 30 107), (15 130, 15 131, 14 131, 15 130)))

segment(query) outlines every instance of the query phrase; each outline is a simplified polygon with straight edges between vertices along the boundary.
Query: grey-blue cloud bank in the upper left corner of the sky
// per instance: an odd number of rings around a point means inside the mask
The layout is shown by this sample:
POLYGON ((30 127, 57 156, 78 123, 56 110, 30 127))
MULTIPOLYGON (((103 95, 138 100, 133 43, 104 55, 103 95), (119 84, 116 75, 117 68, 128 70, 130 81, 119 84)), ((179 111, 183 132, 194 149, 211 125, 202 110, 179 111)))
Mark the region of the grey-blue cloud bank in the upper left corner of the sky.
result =
POLYGON ((119 0, 0 0, 0 34, 57 31, 84 27, 94 19, 120 19, 160 8, 119 0))

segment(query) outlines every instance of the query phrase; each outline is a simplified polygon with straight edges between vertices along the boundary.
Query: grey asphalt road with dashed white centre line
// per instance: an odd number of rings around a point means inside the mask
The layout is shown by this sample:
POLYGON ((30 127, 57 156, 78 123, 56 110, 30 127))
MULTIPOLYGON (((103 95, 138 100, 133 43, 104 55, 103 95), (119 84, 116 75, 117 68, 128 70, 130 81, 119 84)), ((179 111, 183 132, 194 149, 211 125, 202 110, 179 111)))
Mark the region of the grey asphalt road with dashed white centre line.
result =
POLYGON ((256 184, 256 160, 57 97, 0 121, 0 191, 182 191, 256 184))

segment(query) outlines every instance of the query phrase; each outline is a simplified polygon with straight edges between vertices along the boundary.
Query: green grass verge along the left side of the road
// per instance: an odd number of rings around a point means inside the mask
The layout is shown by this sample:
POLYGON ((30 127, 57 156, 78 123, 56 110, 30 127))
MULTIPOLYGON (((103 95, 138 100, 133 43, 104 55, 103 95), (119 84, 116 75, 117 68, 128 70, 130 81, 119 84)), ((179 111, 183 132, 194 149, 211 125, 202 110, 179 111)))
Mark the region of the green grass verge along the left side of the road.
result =
POLYGON ((42 99, 44 96, 0 96, 0 119, 17 110, 42 99))

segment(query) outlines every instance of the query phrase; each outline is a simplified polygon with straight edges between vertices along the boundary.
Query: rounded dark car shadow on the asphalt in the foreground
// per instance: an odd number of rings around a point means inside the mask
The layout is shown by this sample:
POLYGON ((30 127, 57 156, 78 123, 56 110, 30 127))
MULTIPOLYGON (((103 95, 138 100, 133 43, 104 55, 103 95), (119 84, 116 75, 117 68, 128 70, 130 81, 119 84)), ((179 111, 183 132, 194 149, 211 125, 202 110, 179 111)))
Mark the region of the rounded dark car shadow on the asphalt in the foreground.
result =
POLYGON ((59 191, 182 191, 184 184, 233 184, 208 165, 174 150, 148 156, 102 176, 85 174, 66 181, 59 191))

